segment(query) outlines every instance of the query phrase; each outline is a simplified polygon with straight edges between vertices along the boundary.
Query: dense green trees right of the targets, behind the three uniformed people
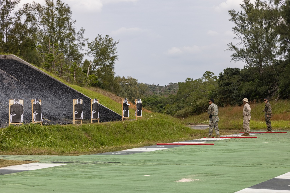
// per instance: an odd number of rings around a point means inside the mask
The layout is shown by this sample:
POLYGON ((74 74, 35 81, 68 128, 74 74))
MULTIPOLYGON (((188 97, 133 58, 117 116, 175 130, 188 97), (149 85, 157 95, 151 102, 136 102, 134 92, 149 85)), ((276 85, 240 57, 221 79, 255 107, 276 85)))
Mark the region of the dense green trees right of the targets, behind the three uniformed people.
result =
POLYGON ((176 95, 154 96, 144 106, 178 117, 206 111, 209 98, 219 106, 242 104, 242 98, 260 101, 290 97, 290 1, 244 0, 242 11, 229 10, 229 21, 238 44, 228 44, 232 61, 243 69, 226 68, 219 76, 206 72, 202 78, 178 83, 176 95))

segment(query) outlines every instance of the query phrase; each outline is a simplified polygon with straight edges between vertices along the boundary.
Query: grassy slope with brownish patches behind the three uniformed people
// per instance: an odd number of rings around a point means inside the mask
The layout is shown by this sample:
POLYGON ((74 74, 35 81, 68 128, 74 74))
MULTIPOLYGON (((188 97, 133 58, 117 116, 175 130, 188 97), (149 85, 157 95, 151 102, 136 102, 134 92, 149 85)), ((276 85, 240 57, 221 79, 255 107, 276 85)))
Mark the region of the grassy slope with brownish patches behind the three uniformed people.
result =
MULTIPOLYGON (((273 118, 271 120, 273 130, 290 128, 290 101, 270 101, 273 118)), ((251 120, 250 129, 267 129, 264 117, 264 103, 250 103, 251 120)), ((242 129, 243 128, 243 106, 228 106, 219 108, 220 129, 242 129)), ((207 113, 191 116, 183 120, 184 124, 208 124, 207 113)))

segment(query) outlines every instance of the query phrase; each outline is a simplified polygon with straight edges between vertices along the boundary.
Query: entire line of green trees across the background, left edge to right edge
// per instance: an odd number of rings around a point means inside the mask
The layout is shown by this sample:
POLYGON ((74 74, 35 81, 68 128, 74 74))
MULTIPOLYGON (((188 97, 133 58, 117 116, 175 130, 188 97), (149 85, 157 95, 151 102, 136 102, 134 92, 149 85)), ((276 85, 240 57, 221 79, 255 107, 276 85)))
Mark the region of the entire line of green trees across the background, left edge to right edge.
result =
POLYGON ((147 109, 177 117, 206 111, 209 98, 226 106, 241 104, 242 98, 290 97, 290 0, 244 0, 242 11, 229 10, 238 44, 229 43, 226 50, 232 53, 229 60, 245 63, 243 69, 229 67, 219 76, 206 71, 201 78, 164 87, 115 76, 119 40, 101 34, 86 38, 85 29, 75 28, 68 4, 45 0, 45 5, 18 8, 20 1, 0 0, 0 52, 16 54, 73 84, 99 87, 131 102, 142 98, 147 109))

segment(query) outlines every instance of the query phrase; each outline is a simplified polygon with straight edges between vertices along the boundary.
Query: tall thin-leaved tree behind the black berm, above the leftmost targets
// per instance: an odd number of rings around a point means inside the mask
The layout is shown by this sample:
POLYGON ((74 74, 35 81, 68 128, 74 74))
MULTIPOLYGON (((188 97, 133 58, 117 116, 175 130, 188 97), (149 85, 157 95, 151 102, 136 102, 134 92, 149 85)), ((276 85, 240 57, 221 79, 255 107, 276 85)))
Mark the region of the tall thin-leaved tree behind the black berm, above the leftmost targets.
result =
MULTIPOLYGON (((39 53, 45 60, 45 54, 63 53, 66 64, 70 67, 74 62, 79 66, 84 54, 80 52, 88 38, 84 38, 84 29, 75 29, 76 20, 68 4, 45 0, 45 5, 33 2, 26 4, 25 13, 30 25, 35 26, 39 53), (57 45, 57 52, 55 51, 57 45)), ((55 57, 56 58, 56 57, 55 57)))

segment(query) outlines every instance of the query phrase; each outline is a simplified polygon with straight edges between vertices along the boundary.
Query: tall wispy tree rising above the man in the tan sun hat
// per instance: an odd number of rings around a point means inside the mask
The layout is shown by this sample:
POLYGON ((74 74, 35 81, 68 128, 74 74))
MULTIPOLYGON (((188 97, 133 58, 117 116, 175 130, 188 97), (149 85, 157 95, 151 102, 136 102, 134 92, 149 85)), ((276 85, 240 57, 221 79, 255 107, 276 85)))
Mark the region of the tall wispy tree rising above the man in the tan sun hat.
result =
POLYGON ((267 3, 260 0, 255 5, 250 0, 243 2, 243 11, 229 10, 229 21, 235 24, 234 39, 240 42, 237 45, 228 44, 226 50, 233 52, 231 61, 243 61, 249 67, 257 67, 261 76, 265 67, 273 65, 276 60, 278 36, 270 21, 265 19, 265 10, 269 9, 267 3))

